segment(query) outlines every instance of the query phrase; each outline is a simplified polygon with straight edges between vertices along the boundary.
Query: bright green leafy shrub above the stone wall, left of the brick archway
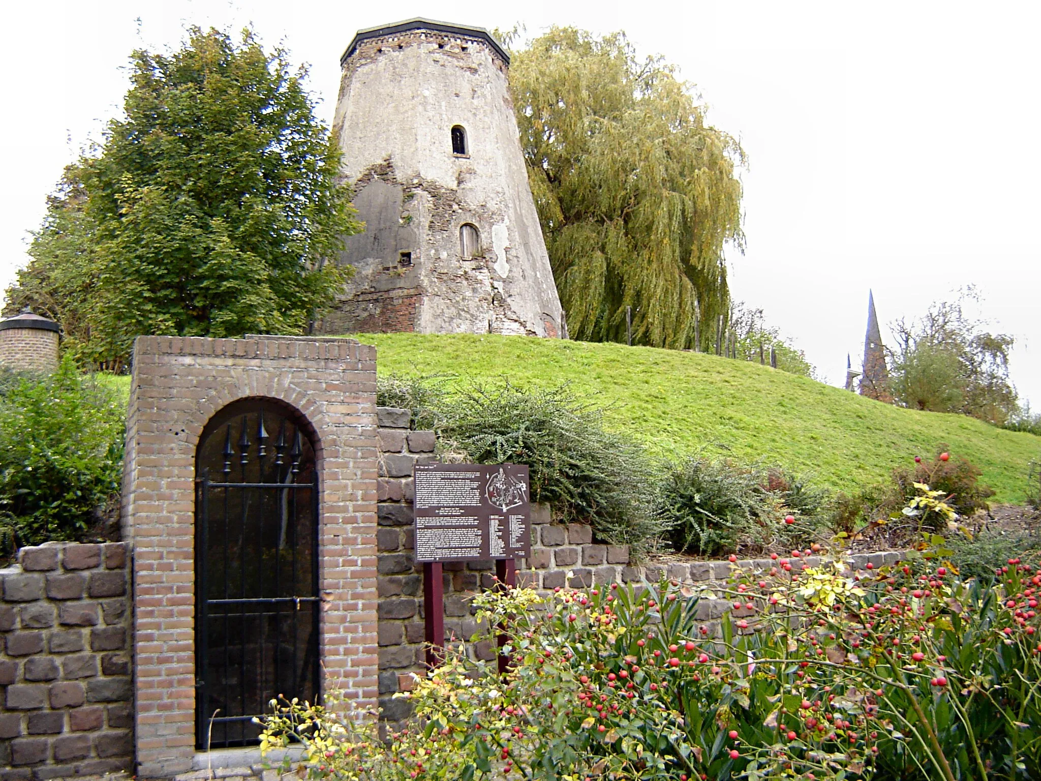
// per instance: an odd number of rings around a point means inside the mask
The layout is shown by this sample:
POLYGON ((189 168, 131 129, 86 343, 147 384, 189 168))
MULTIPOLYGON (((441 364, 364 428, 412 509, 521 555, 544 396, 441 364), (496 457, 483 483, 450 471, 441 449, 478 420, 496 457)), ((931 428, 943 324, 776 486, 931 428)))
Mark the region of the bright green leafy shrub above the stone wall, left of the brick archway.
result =
POLYGON ((0 508, 19 545, 76 539, 117 506, 126 410, 70 357, 0 399, 0 508))

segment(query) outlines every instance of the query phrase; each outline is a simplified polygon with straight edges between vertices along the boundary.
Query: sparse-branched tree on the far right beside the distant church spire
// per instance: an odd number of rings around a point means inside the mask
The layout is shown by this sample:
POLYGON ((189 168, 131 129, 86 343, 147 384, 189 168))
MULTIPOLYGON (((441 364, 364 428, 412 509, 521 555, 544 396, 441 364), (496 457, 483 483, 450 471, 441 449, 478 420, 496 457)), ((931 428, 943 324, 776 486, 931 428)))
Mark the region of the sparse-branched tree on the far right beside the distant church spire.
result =
POLYGON ((960 412, 1002 425, 1018 410, 1009 379, 1015 339, 990 333, 966 312, 973 291, 957 301, 933 304, 921 319, 897 321, 890 354, 893 395, 913 409, 960 412))

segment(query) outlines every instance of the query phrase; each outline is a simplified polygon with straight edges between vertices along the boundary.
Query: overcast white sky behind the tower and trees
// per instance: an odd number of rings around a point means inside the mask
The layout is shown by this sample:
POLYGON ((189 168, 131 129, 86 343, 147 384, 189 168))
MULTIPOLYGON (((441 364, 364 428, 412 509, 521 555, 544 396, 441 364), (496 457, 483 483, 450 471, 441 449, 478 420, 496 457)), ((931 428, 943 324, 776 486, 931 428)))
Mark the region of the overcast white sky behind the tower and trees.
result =
POLYGON ((621 29, 680 66, 709 121, 741 140, 747 251, 730 255, 734 295, 827 381, 842 383, 847 352, 859 362, 869 287, 885 338, 891 320, 975 284, 1017 338, 1021 396, 1041 406, 1037 2, 39 0, 4 16, 4 288, 62 167, 118 115, 131 49, 176 45, 186 25, 252 22, 283 43, 311 65, 327 121, 361 27, 425 16, 519 22, 529 35, 621 29))

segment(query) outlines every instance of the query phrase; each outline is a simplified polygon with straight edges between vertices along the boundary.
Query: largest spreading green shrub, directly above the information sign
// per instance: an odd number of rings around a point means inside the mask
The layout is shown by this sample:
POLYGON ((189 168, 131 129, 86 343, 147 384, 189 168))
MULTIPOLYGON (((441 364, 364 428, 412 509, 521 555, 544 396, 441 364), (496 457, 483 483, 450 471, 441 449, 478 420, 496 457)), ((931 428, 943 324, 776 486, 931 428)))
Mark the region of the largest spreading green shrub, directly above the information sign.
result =
POLYGON ((603 541, 637 555, 657 536, 654 474, 643 450, 607 431, 601 411, 566 385, 522 391, 467 385, 440 406, 442 447, 476 463, 524 463, 532 501, 561 521, 588 523, 603 541))

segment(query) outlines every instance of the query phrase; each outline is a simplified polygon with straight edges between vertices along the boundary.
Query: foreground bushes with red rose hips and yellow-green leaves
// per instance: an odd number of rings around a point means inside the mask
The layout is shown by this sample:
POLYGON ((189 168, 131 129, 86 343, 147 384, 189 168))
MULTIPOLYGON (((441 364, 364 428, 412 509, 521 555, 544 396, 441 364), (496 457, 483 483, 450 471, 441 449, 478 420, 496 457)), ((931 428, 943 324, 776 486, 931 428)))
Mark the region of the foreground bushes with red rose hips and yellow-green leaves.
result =
MULTIPOLYGON (((931 538, 933 543, 942 540, 931 538)), ((853 573, 794 551, 735 566, 737 612, 705 621, 675 582, 475 599, 511 666, 448 650, 384 744, 333 709, 278 703, 263 748, 303 742, 313 779, 1037 778, 1041 577, 993 585, 936 558, 853 573)))

